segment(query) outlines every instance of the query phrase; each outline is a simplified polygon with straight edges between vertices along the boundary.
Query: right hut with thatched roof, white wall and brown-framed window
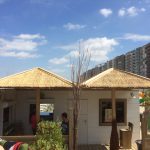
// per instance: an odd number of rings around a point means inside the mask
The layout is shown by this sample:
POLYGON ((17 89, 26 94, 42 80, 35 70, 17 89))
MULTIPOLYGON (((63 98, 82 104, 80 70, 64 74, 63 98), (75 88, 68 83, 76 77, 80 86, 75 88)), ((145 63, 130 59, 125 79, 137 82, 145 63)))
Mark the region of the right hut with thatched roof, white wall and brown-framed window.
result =
POLYGON ((133 123, 132 143, 140 138, 138 92, 150 87, 150 79, 110 68, 82 85, 86 102, 81 105, 79 141, 109 144, 112 118, 117 119, 118 130, 126 129, 128 122, 133 123))

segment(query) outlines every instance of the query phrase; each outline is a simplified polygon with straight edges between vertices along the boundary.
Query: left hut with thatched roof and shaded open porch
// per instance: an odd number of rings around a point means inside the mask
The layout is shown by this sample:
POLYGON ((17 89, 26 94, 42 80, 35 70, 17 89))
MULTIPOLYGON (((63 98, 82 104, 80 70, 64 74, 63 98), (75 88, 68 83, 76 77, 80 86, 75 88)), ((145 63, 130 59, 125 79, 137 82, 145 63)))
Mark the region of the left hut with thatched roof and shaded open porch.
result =
POLYGON ((1 78, 0 134, 11 134, 15 122, 21 122, 24 133, 31 134, 30 111, 36 106, 36 118, 39 121, 40 104, 55 103, 56 113, 53 117, 56 119, 67 110, 66 105, 59 105, 59 101, 67 101, 71 87, 70 81, 42 68, 1 78))

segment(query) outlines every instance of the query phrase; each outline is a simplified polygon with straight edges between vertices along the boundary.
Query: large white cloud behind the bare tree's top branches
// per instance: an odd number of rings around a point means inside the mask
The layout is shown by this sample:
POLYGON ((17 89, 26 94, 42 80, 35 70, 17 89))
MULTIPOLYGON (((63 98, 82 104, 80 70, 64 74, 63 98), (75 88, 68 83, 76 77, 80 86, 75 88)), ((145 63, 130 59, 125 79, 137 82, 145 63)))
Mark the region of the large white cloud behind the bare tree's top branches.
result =
POLYGON ((79 56, 79 49, 84 52, 88 49, 91 55, 91 64, 97 64, 108 60, 108 54, 119 43, 112 38, 99 37, 80 40, 72 44, 59 46, 57 48, 65 50, 62 57, 55 57, 48 61, 49 67, 55 73, 70 78, 70 68, 72 63, 76 63, 79 56), (80 44, 79 44, 80 43, 80 44), (80 47, 80 48, 79 48, 80 47), (59 67, 59 69, 57 69, 59 67), (67 74, 66 74, 67 72, 67 74))

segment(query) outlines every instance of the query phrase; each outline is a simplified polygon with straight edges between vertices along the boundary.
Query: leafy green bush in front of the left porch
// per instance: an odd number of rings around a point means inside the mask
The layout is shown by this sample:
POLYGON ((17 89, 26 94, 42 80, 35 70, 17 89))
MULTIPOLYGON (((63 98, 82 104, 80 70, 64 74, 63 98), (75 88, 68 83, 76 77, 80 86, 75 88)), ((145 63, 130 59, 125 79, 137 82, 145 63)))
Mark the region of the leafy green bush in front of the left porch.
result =
POLYGON ((36 136, 36 141, 30 145, 31 150, 66 150, 58 122, 41 121, 36 136))

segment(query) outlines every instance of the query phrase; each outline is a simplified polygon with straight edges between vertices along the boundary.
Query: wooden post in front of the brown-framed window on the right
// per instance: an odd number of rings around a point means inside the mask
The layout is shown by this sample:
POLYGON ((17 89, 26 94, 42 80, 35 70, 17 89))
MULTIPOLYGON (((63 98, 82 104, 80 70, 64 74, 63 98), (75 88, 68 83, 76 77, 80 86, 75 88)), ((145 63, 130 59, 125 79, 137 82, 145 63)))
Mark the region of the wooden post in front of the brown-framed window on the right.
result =
POLYGON ((112 96, 112 119, 116 120, 116 93, 115 89, 112 89, 111 96, 112 96))

